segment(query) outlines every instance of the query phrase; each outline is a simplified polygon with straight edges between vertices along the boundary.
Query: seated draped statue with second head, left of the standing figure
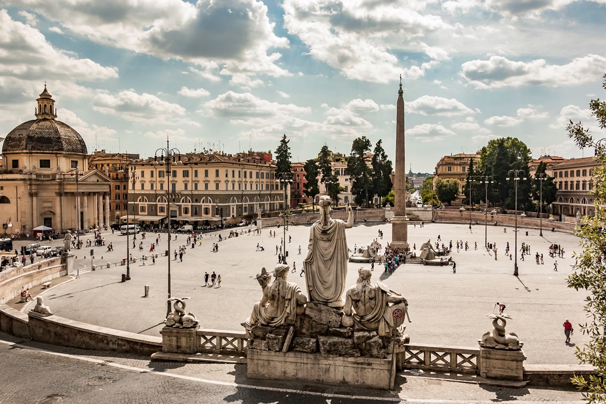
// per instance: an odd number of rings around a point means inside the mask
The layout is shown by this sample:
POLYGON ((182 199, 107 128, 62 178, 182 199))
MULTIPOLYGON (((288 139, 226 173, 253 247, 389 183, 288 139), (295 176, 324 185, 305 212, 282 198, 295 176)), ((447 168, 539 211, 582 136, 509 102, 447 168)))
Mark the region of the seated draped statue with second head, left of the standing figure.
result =
POLYGON ((296 316, 305 312, 307 297, 296 283, 288 282, 290 267, 278 264, 273 271, 275 280, 270 283, 271 275, 265 268, 257 274, 257 281, 263 289, 263 296, 253 306, 253 312, 242 325, 250 334, 250 329, 258 324, 278 326, 294 324, 296 316))

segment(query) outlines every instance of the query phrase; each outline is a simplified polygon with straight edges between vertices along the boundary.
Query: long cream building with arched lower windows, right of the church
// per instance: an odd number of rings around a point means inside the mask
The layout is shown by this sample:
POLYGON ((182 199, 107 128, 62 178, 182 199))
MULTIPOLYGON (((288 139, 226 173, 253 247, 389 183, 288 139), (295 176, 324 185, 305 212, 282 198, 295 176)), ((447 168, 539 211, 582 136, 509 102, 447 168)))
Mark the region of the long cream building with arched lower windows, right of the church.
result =
POLYGON ((265 214, 284 208, 271 154, 186 153, 168 172, 158 164, 160 158, 135 164, 128 193, 132 222, 165 224, 170 214, 173 225, 210 225, 253 219, 259 209, 265 214))

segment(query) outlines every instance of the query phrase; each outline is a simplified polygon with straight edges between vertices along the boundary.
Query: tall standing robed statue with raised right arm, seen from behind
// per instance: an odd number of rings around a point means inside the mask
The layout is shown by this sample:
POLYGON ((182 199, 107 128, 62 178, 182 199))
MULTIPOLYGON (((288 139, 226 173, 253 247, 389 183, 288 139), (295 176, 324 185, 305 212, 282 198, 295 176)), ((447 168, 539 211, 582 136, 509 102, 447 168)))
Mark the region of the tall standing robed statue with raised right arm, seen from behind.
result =
POLYGON ((310 302, 342 307, 347 275, 345 229, 353 226, 353 210, 347 204, 347 222, 330 217, 330 196, 320 197, 320 218, 311 225, 307 257, 303 262, 310 302))

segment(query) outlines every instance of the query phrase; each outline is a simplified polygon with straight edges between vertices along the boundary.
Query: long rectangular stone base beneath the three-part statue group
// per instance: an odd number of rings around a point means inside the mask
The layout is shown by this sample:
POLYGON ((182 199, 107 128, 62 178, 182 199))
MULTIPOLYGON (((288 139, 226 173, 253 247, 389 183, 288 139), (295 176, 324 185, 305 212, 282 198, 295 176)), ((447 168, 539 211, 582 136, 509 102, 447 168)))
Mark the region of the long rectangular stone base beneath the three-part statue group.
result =
POLYGON ((391 359, 325 357, 321 354, 248 349, 248 379, 304 380, 327 385, 393 389, 395 368, 391 359))

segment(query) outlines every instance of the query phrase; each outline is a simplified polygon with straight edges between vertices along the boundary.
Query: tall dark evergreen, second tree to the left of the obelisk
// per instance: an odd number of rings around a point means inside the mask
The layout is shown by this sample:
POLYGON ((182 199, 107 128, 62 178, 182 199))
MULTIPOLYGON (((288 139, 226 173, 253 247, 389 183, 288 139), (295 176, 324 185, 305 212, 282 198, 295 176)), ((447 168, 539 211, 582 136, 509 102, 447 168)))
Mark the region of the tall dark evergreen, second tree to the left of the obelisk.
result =
POLYGON ((368 200, 373 197, 373 182, 370 167, 366 164, 364 154, 370 151, 370 140, 366 136, 354 139, 351 144, 351 155, 347 161, 347 171, 351 183, 351 194, 358 205, 368 208, 368 200))

